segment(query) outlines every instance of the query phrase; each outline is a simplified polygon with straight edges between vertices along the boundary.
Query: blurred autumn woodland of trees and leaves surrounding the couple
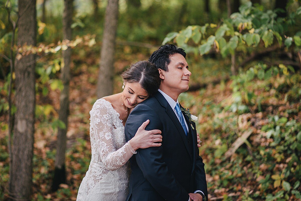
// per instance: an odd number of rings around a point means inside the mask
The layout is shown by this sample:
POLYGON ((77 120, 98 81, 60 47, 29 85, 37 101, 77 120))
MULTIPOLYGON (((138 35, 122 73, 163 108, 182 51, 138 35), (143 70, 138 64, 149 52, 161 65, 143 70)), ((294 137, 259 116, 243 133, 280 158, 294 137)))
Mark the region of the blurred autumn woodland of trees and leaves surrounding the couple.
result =
POLYGON ((167 42, 188 53, 209 200, 300 200, 300 6, 0 0, 0 200, 76 200, 92 105, 167 42))

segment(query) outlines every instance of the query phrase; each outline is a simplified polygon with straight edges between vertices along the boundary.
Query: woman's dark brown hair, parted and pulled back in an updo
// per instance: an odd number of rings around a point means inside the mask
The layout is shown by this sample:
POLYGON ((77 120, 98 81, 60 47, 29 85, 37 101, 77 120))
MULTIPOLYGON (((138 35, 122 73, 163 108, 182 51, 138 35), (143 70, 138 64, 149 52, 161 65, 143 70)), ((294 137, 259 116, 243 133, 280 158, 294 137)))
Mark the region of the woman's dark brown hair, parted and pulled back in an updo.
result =
POLYGON ((149 61, 132 63, 121 77, 124 82, 138 82, 149 96, 154 96, 160 86, 160 77, 157 67, 149 61))

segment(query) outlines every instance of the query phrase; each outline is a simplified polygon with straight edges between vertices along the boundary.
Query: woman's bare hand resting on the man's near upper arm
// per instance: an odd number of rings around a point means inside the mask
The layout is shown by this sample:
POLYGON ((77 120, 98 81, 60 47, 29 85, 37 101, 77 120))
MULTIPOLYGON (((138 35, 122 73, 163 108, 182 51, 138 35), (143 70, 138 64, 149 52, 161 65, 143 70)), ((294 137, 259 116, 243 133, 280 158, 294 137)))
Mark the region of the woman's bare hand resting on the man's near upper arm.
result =
POLYGON ((146 131, 145 127, 150 122, 146 120, 137 130, 135 136, 129 141, 133 149, 144 149, 148 147, 160 147, 162 142, 162 135, 160 130, 146 131))

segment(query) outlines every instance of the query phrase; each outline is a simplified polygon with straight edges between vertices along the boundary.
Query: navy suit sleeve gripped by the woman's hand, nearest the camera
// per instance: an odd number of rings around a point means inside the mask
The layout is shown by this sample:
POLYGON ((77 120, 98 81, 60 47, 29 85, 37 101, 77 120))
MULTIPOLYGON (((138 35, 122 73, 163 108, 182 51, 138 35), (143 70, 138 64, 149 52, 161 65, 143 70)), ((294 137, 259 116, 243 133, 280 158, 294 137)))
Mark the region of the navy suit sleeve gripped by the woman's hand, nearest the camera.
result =
MULTIPOLYGON (((129 141, 134 137, 136 131, 143 122, 150 120, 145 130, 159 129, 162 131, 163 125, 150 107, 140 104, 129 115, 126 121, 125 135, 129 141)), ((179 184, 175 177, 169 172, 166 163, 163 161, 164 135, 160 147, 149 147, 138 149, 135 154, 137 164, 144 177, 151 183, 154 189, 166 200, 189 200, 189 195, 179 184)))

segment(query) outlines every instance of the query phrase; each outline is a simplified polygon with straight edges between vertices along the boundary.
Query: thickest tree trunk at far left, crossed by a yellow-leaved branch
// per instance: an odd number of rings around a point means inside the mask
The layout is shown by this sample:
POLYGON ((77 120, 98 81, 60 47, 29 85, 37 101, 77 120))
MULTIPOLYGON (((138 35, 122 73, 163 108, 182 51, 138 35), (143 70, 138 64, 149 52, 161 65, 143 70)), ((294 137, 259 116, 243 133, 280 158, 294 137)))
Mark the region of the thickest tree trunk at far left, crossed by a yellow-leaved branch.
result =
MULTIPOLYGON (((17 45, 36 46, 36 0, 19 0, 17 45)), ((35 58, 33 54, 16 60, 16 107, 9 196, 29 200, 32 193, 33 141, 35 122, 35 58)))

